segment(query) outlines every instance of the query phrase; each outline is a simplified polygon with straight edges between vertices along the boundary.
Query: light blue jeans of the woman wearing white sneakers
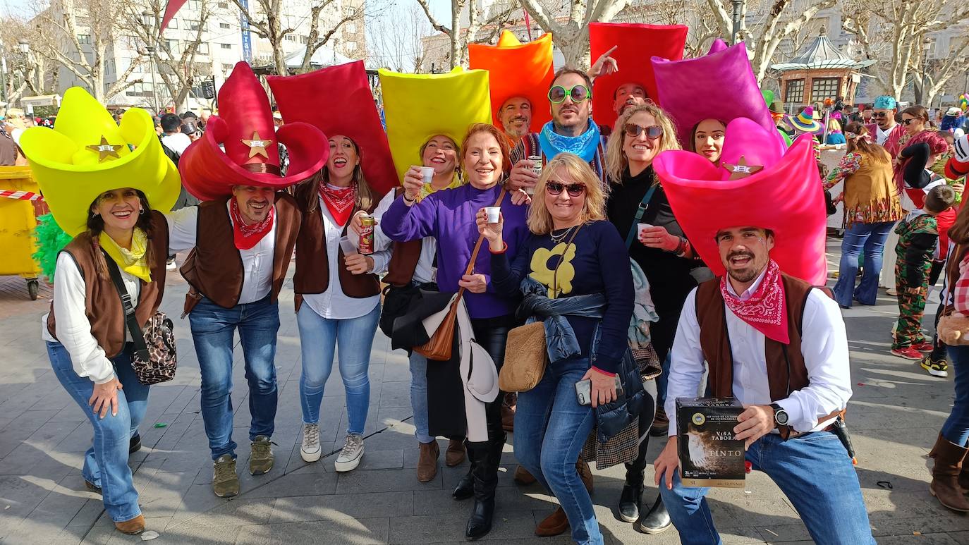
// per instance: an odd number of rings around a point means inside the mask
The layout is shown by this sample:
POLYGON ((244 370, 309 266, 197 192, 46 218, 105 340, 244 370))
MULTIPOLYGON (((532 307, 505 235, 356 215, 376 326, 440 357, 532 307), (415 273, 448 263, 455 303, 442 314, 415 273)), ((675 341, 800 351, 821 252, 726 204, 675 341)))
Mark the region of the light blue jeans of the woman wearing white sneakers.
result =
POLYGON ((363 434, 370 406, 370 348, 380 320, 380 304, 359 318, 331 319, 316 314, 303 304, 297 312, 299 347, 302 350, 302 375, 299 399, 303 423, 320 421, 323 387, 333 370, 333 355, 340 349, 340 378, 347 393, 347 434, 363 434))

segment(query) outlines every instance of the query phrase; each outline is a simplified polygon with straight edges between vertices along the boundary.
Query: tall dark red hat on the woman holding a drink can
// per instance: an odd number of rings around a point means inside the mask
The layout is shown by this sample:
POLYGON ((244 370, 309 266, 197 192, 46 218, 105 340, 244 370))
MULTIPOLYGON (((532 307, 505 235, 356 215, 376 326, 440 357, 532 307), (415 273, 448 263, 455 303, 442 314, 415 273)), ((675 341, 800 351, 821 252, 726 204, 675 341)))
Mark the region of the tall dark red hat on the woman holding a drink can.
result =
POLYGON ((363 176, 376 193, 384 195, 399 184, 363 61, 266 80, 286 121, 283 127, 303 122, 328 136, 347 136, 359 146, 363 176), (321 97, 327 97, 328 106, 320 105, 321 97))

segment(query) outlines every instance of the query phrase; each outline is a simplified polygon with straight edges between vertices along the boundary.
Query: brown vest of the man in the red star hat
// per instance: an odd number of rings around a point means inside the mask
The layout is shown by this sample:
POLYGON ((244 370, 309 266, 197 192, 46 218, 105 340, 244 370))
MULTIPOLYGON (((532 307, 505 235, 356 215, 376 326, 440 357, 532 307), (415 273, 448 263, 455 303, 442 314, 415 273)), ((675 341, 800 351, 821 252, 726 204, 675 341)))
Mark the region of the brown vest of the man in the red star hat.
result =
MULTIPOLYGON (((242 256, 235 248, 233 223, 229 218, 231 197, 209 200, 199 205, 198 230, 195 248, 181 266, 182 277, 192 287, 185 299, 185 313, 191 311, 201 295, 216 305, 231 309, 238 304, 242 293, 244 271, 242 256)), ((272 255, 272 290, 270 299, 276 301, 286 271, 293 256, 301 215, 296 200, 282 192, 276 193, 276 239, 272 255)))

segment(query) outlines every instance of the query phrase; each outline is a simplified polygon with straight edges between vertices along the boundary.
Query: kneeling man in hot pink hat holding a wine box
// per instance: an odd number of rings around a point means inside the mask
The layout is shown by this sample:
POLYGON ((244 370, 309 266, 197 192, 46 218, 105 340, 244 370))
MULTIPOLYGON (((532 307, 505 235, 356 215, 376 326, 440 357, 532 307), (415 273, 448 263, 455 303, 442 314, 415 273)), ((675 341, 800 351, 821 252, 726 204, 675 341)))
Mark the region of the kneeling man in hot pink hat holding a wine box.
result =
POLYGON ((656 160, 672 209, 717 278, 690 292, 672 346, 670 439, 655 482, 680 541, 721 543, 707 488, 686 487, 676 398, 706 388, 744 406, 746 460, 784 492, 817 543, 874 543, 858 475, 833 431, 852 395, 848 339, 826 277, 825 207, 811 136, 785 151, 772 127, 727 126, 722 166, 669 151, 656 160), (783 181, 783 183, 780 183, 783 181), (757 203, 724 206, 724 202, 757 203))

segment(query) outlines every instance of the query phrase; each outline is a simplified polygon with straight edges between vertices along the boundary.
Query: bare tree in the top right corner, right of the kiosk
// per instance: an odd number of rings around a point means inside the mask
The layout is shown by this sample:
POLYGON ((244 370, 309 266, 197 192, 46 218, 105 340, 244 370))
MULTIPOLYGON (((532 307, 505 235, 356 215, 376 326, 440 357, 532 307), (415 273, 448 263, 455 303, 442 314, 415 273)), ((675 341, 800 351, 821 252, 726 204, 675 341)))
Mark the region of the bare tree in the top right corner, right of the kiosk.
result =
POLYGON ((855 35, 869 59, 878 59, 876 76, 895 99, 918 66, 922 42, 969 16, 969 7, 952 0, 843 0, 842 26, 855 35), (915 58, 913 58, 915 57, 915 58))

